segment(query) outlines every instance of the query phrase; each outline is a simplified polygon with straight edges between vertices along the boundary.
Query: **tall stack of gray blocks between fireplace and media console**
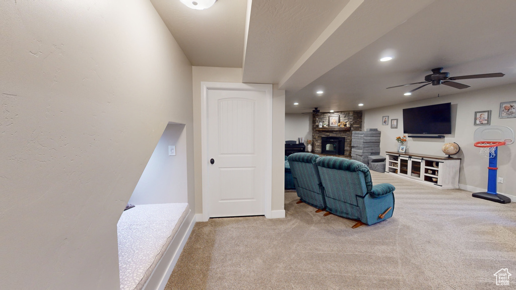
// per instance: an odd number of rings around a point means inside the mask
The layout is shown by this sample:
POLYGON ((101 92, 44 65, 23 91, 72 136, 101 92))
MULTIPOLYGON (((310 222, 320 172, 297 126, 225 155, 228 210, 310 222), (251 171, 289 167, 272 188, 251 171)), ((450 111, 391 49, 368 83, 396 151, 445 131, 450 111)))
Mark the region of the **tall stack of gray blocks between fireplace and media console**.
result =
POLYGON ((378 129, 353 131, 351 141, 351 159, 369 164, 368 157, 380 155, 380 134, 378 129))

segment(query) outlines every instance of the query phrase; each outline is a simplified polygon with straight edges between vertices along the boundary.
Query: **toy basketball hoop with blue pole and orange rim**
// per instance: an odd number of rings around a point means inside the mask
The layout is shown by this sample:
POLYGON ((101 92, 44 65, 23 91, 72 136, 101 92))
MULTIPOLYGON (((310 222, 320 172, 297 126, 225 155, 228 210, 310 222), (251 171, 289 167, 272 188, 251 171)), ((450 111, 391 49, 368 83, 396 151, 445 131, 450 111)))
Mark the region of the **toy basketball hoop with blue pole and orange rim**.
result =
POLYGON ((514 142, 514 132, 506 126, 485 126, 475 130, 474 146, 480 148, 480 155, 489 157, 487 191, 476 192, 472 196, 499 203, 509 203, 511 199, 496 193, 496 170, 498 170, 498 147, 514 142))

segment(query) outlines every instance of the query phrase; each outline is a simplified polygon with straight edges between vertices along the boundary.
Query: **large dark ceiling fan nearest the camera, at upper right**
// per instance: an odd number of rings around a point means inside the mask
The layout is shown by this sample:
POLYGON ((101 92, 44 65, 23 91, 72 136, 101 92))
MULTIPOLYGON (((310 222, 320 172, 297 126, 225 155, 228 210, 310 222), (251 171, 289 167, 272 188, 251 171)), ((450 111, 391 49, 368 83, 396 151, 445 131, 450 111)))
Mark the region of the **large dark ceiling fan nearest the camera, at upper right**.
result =
POLYGON ((412 93, 412 92, 414 92, 418 89, 421 89, 422 87, 428 86, 430 84, 432 84, 432 86, 446 85, 446 86, 453 87, 456 89, 465 89, 465 88, 469 88, 470 86, 464 85, 461 83, 457 83, 457 82, 452 82, 452 80, 469 79, 469 78, 502 77, 505 75, 503 73, 485 73, 485 74, 472 74, 472 75, 461 75, 461 76, 450 77, 450 73, 442 72, 442 70, 443 70, 443 68, 433 69, 431 74, 425 76, 424 82, 394 86, 394 87, 389 87, 388 89, 410 86, 410 85, 417 85, 417 84, 424 84, 424 85, 409 91, 409 93, 412 93))

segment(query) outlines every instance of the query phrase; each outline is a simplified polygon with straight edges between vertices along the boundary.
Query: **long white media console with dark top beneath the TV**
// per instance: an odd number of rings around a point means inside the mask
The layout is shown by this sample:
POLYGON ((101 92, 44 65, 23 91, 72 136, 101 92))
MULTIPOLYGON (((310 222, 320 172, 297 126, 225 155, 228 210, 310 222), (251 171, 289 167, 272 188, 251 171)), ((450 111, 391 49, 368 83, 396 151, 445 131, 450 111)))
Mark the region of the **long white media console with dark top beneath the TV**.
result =
POLYGON ((385 154, 385 174, 393 174, 441 189, 459 188, 460 158, 400 152, 385 154))

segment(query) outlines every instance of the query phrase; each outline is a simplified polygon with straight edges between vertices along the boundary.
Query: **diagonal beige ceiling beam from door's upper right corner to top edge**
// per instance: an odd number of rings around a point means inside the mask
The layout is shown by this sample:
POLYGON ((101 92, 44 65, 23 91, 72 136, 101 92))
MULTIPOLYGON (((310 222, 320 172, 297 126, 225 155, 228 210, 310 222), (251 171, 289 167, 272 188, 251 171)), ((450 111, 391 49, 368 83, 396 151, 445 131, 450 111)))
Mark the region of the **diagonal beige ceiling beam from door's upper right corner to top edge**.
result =
POLYGON ((432 2, 351 0, 288 70, 279 88, 297 92, 432 2))

